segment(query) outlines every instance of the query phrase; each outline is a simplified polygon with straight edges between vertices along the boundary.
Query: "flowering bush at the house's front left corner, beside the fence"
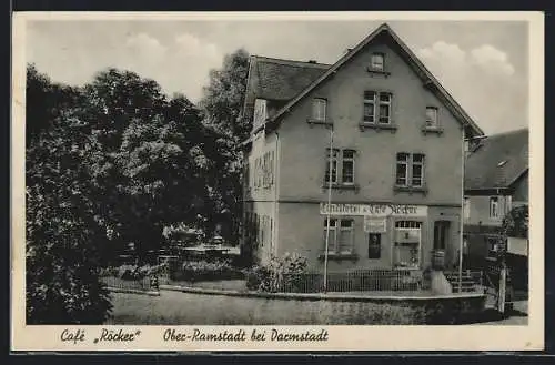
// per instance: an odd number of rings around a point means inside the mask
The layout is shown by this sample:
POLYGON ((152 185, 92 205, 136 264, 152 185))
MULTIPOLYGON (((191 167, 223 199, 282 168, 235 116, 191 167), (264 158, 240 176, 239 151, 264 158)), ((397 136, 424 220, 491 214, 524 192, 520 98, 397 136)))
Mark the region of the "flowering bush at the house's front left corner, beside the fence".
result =
POLYGON ((259 292, 300 292, 306 273, 306 258, 286 253, 272 256, 265 266, 254 266, 246 274, 246 287, 259 292))

